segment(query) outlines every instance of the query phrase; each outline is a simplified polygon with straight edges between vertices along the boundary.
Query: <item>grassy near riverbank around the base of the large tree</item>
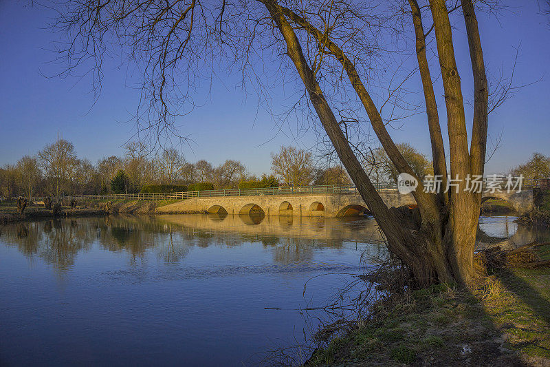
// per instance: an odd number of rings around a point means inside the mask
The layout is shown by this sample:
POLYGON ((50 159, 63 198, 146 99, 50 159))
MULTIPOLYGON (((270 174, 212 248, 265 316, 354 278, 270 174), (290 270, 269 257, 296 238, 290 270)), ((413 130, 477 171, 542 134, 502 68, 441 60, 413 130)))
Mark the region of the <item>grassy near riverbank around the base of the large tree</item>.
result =
MULTIPOLYGON (((318 331, 333 338, 305 366, 550 366, 550 268, 541 260, 550 244, 494 250, 480 256, 488 270, 467 289, 386 292, 366 317, 318 331)), ((381 278, 395 272, 366 277, 381 278)))

